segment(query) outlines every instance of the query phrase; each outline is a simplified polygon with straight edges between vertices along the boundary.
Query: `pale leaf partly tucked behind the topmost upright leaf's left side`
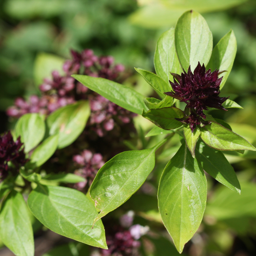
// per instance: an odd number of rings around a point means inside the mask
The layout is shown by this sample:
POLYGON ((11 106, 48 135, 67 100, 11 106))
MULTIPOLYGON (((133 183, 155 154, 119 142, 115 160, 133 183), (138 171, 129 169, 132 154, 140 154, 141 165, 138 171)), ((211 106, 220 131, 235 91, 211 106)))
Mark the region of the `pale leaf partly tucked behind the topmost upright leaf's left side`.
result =
POLYGON ((182 67, 175 51, 173 27, 159 37, 155 48, 154 64, 156 74, 162 77, 168 85, 169 80, 174 81, 170 72, 182 73, 182 67))

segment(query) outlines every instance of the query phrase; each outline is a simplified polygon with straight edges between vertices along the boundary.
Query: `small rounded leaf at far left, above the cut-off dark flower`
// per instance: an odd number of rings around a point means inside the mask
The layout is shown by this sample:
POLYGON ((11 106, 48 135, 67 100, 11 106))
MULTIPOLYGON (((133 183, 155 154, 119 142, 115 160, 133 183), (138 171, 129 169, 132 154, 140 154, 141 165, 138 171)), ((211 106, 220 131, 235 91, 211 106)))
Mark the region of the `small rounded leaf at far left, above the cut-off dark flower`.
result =
POLYGON ((23 115, 15 126, 16 136, 24 143, 25 152, 37 146, 45 135, 45 122, 37 113, 23 115))

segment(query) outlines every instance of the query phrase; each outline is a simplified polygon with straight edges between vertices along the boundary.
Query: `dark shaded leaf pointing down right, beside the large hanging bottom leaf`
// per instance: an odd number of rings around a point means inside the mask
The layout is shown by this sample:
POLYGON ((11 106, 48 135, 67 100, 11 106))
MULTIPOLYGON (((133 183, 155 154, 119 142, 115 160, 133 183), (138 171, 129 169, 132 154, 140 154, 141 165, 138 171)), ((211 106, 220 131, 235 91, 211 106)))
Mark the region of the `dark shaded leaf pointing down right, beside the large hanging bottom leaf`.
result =
POLYGON ((228 188, 241 193, 234 168, 221 151, 211 148, 201 141, 196 146, 196 158, 200 161, 205 172, 228 188))

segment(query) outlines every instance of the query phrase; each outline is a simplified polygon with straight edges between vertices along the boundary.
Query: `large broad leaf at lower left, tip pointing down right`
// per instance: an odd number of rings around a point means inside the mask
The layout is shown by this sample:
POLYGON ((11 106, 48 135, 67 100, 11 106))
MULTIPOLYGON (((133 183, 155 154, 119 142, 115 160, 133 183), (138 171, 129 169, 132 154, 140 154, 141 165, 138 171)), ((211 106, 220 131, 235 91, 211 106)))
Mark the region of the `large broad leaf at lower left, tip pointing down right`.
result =
POLYGON ((98 212, 82 192, 38 184, 29 194, 27 204, 35 217, 55 233, 91 246, 108 248, 102 222, 93 226, 98 212))

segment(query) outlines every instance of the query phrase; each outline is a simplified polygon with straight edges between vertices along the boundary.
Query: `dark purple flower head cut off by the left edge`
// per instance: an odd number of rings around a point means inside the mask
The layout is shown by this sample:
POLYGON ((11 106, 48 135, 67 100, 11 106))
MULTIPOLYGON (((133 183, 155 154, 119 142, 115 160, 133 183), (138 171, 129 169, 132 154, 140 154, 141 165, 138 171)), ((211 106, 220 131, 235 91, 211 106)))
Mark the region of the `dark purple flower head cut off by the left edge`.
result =
POLYGON ((24 147, 21 148, 22 145, 20 137, 14 141, 10 131, 0 136, 0 181, 8 175, 9 161, 16 168, 26 164, 27 159, 25 158, 24 147))

